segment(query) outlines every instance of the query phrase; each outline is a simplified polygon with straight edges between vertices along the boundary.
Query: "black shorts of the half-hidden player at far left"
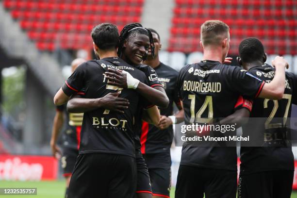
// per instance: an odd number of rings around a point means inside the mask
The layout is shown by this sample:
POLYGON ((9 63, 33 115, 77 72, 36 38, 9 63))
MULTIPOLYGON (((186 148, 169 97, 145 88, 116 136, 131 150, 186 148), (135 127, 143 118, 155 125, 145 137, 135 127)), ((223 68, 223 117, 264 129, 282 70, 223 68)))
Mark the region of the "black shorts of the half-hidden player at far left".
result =
POLYGON ((78 156, 78 149, 76 148, 62 148, 61 166, 63 168, 63 176, 71 176, 78 156))

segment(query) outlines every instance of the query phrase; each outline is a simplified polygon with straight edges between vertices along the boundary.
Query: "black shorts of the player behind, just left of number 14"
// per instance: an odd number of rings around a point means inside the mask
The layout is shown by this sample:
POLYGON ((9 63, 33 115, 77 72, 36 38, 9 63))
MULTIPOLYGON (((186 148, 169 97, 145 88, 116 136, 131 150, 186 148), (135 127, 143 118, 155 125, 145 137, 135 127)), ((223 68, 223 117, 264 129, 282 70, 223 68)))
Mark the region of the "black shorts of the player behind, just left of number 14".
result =
POLYGON ((148 173, 153 196, 169 198, 171 189, 170 152, 143 155, 148 165, 148 173))

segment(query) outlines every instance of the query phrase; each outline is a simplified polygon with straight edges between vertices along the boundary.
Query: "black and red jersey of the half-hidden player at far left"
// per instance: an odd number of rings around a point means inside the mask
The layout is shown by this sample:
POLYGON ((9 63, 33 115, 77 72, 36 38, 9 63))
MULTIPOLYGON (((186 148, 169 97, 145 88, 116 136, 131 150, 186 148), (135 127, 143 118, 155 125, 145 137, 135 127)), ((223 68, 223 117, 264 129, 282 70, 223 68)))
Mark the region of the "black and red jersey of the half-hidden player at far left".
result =
POLYGON ((80 145, 80 133, 82 128, 82 114, 72 114, 66 111, 66 105, 56 106, 56 110, 63 112, 66 116, 65 130, 62 134, 63 147, 67 148, 79 148, 80 145))

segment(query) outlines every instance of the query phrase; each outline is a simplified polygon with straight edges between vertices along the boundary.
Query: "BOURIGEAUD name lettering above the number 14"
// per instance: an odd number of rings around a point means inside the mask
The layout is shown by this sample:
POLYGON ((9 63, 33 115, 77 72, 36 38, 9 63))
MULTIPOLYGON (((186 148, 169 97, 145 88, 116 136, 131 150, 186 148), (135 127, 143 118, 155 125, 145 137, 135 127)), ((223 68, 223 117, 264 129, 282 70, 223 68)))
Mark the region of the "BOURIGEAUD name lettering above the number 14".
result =
POLYGON ((198 82, 183 81, 183 90, 200 93, 219 93, 221 92, 221 82, 198 82))

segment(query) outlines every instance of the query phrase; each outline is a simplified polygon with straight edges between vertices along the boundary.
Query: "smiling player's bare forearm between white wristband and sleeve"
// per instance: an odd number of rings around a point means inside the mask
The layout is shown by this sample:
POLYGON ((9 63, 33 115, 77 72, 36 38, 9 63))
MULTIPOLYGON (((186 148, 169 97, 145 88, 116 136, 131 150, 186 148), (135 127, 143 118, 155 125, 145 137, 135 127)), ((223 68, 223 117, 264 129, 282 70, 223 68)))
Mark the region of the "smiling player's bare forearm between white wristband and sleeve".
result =
POLYGON ((154 105, 162 108, 167 108, 169 105, 169 99, 163 87, 158 86, 151 88, 148 85, 139 82, 136 91, 154 105))

